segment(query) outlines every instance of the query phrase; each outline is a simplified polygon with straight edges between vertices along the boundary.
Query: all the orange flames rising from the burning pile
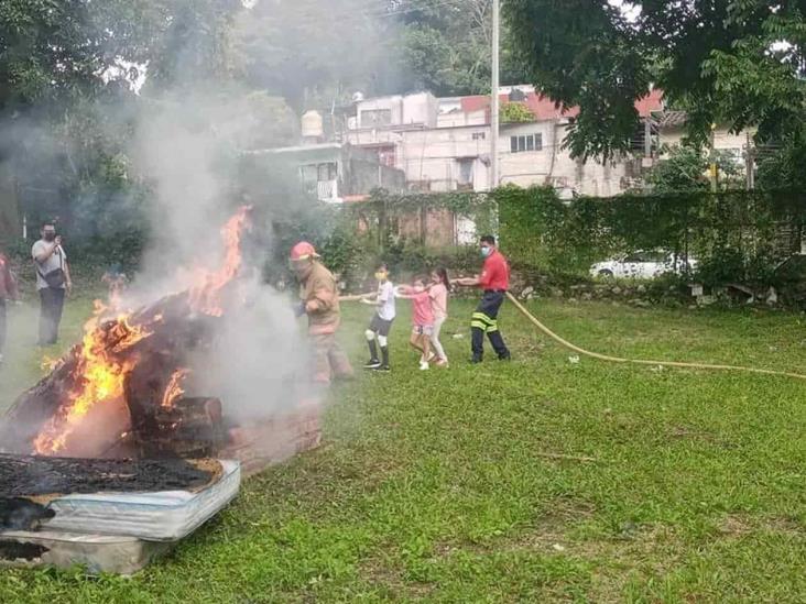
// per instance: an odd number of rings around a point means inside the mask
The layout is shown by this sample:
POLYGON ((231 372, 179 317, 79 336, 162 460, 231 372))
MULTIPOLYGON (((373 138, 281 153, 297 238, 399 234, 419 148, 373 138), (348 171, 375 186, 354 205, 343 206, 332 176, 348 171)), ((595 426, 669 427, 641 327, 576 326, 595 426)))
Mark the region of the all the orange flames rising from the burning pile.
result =
MULTIPOLYGON (((241 234, 249 223, 250 210, 249 207, 240 208, 222 228, 225 261, 217 271, 198 272, 196 285, 187 292, 192 310, 213 316, 224 314, 221 290, 241 270, 241 234)), ((153 316, 148 325, 132 323, 133 315, 121 314, 121 308, 117 295, 110 296, 109 305, 96 301, 94 317, 85 326, 77 363, 70 376, 73 386, 34 439, 34 453, 64 453, 70 435, 94 406, 123 400, 127 375, 140 361, 131 349, 152 336, 162 325, 163 317, 153 316), (117 318, 110 320, 115 312, 118 312, 117 318)), ((184 394, 182 382, 188 373, 185 369, 173 373, 163 395, 163 406, 172 406, 184 394)))

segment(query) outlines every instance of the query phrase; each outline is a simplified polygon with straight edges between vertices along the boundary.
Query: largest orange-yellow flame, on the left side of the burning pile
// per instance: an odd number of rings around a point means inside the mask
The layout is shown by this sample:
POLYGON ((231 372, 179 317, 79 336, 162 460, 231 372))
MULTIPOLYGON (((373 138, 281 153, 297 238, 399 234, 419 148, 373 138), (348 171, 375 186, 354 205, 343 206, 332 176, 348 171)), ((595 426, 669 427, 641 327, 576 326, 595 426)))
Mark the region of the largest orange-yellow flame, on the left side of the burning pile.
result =
POLYGON ((34 439, 34 452, 56 454, 94 405, 123 396, 127 372, 137 364, 135 355, 118 358, 144 338, 151 336, 143 326, 132 326, 128 317, 113 325, 99 325, 98 316, 85 326, 78 363, 73 373, 75 386, 63 405, 34 439))

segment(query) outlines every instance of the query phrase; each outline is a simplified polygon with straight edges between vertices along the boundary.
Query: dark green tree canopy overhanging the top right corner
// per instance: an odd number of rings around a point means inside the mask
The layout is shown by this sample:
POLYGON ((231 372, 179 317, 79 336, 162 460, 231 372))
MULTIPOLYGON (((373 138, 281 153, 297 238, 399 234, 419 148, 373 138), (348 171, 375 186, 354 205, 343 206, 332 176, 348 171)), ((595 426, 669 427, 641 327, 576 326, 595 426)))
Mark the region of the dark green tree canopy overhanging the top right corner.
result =
POLYGON ((758 125, 760 140, 804 128, 803 2, 509 0, 504 15, 532 81, 580 107, 575 156, 627 151, 651 83, 688 112, 695 143, 714 122, 758 125))

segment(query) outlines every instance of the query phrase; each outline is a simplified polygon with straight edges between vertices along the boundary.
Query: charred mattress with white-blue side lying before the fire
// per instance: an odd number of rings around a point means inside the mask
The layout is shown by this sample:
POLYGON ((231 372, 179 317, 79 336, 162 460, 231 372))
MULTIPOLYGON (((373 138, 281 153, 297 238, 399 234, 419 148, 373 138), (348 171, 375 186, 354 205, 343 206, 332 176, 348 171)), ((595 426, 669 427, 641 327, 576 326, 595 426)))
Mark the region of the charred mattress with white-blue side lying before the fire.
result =
POLYGON ((4 461, 36 471, 17 481, 2 476, 0 534, 42 529, 175 541, 222 509, 240 487, 237 461, 4 461))

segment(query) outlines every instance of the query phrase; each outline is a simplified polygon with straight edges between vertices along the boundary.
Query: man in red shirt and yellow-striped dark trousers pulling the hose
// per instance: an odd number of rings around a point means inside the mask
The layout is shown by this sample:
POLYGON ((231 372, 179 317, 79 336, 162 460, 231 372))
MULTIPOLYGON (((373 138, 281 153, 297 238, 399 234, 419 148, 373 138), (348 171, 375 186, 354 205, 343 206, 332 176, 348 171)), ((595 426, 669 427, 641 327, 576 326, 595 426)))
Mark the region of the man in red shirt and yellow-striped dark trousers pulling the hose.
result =
POLYGON ((484 355, 484 333, 490 340, 499 360, 509 361, 511 354, 498 330, 498 311, 510 288, 510 266, 507 259, 495 248, 495 238, 481 238, 481 256, 484 266, 480 275, 456 279, 454 283, 466 287, 480 287, 483 290, 481 301, 473 312, 471 326, 471 363, 480 363, 484 355))

